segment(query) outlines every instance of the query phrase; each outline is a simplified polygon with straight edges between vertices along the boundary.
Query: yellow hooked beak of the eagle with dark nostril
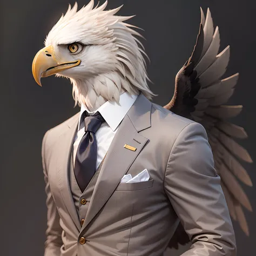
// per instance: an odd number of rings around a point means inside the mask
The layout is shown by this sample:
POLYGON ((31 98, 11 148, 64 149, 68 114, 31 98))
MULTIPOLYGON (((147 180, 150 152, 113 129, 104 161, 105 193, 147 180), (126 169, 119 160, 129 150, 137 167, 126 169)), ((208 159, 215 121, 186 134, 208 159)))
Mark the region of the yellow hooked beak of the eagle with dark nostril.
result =
POLYGON ((37 52, 32 63, 32 73, 36 82, 41 85, 41 77, 49 77, 65 69, 78 66, 81 60, 75 62, 57 62, 53 53, 53 46, 49 45, 37 52))

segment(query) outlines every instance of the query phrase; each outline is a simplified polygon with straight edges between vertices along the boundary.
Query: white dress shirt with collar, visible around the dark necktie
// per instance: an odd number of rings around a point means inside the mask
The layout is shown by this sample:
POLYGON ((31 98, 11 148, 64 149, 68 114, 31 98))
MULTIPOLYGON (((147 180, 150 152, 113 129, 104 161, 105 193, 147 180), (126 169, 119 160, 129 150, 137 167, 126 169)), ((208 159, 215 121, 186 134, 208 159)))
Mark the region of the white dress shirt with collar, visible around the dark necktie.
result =
POLYGON ((97 141, 97 161, 96 169, 103 160, 107 150, 109 150, 110 144, 116 134, 119 124, 122 122, 126 113, 129 111, 130 107, 133 105, 138 95, 130 96, 129 93, 124 92, 120 95, 120 100, 118 105, 116 102, 105 102, 96 111, 90 112, 87 107, 83 104, 81 106, 79 122, 78 122, 78 132, 75 137, 75 143, 73 144, 73 165, 75 166, 76 153, 80 140, 84 136, 84 120, 81 120, 82 113, 86 110, 89 113, 95 113, 99 111, 102 117, 105 119, 104 122, 95 133, 97 141))

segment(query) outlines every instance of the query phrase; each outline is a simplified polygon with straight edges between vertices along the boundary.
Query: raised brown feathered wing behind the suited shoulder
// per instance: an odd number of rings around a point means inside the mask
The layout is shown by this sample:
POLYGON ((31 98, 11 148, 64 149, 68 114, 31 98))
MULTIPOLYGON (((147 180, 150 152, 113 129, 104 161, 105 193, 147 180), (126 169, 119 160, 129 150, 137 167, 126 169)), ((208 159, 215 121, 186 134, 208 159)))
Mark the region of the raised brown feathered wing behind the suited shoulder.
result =
MULTIPOLYGON (((221 79, 230 57, 230 47, 218 53, 219 46, 218 26, 214 31, 210 10, 207 9, 205 17, 201 9, 200 30, 193 53, 178 72, 174 96, 164 107, 205 127, 231 217, 249 235, 242 207, 249 211, 252 211, 252 207, 238 179, 248 186, 252 186, 252 181, 238 159, 248 163, 252 159, 234 140, 246 138, 246 132, 227 120, 237 116, 242 106, 223 105, 234 92, 238 73, 221 79)), ((182 229, 181 225, 177 228, 170 247, 177 248, 178 244, 184 245, 189 241, 185 231, 181 232, 182 229)))

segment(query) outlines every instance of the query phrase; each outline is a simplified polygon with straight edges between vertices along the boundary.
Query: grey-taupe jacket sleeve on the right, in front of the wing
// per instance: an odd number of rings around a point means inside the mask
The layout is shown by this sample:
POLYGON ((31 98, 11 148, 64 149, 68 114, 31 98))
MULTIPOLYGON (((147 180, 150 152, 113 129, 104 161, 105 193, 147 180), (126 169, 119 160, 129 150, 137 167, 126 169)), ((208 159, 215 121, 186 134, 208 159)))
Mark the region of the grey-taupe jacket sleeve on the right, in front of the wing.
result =
POLYGON ((235 256, 235 237, 204 127, 188 124, 170 152, 165 192, 192 241, 181 256, 235 256))

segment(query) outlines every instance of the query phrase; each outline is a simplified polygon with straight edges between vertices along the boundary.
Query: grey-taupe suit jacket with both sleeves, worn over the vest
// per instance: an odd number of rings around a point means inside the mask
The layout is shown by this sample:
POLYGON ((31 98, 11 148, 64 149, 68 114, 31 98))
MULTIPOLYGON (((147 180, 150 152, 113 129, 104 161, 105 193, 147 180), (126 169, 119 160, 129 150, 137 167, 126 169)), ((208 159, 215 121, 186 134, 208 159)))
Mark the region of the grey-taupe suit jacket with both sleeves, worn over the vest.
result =
POLYGON ((161 256, 179 221, 192 241, 183 256, 236 255, 204 127, 151 103, 142 93, 106 154, 81 226, 67 171, 78 117, 49 130, 43 139, 45 256, 161 256), (149 181, 120 184, 124 174, 133 177, 145 168, 149 181))

